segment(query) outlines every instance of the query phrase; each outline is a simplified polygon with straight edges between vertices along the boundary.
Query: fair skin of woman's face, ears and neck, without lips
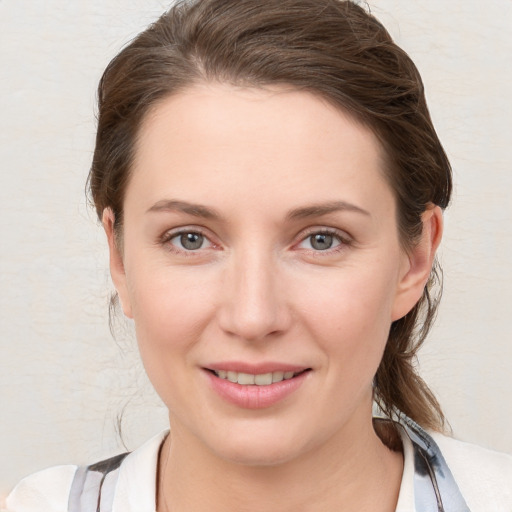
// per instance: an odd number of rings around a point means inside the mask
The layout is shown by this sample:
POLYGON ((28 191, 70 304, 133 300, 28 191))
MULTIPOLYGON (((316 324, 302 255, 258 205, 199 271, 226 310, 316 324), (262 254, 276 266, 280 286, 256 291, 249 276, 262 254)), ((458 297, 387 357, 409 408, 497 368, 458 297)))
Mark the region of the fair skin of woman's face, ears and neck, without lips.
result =
POLYGON ((367 128, 305 92, 202 84, 145 119, 121 244, 109 209, 103 223, 169 409, 159 510, 395 509, 403 461, 372 428, 372 380, 391 322, 422 294, 442 219, 428 208, 405 252, 382 168, 367 128), (312 245, 319 232, 330 248, 312 245), (180 233, 203 243, 187 250, 180 233), (249 410, 204 370, 233 360, 310 371, 249 410))

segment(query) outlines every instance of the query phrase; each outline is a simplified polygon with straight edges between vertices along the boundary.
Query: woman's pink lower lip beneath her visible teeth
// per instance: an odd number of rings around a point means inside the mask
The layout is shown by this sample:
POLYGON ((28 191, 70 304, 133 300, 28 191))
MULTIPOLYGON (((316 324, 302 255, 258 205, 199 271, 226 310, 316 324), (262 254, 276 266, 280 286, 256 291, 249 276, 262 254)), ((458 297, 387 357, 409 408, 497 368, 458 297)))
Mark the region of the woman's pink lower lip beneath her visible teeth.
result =
POLYGON ((264 409, 281 402, 297 391, 310 373, 305 371, 296 377, 268 386, 243 386, 227 379, 221 379, 209 370, 205 370, 205 372, 216 393, 224 400, 244 409, 264 409))

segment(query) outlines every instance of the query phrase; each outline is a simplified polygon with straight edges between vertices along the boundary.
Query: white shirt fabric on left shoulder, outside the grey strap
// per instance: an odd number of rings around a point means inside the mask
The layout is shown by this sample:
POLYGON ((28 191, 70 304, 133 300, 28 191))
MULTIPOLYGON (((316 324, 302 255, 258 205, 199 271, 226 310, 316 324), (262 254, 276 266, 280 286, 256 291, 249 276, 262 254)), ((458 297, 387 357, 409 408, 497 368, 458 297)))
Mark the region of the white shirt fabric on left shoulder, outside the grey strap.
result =
POLYGON ((77 466, 55 466, 34 473, 13 489, 8 512, 67 512, 69 490, 77 466))

